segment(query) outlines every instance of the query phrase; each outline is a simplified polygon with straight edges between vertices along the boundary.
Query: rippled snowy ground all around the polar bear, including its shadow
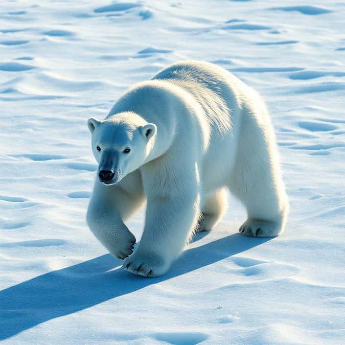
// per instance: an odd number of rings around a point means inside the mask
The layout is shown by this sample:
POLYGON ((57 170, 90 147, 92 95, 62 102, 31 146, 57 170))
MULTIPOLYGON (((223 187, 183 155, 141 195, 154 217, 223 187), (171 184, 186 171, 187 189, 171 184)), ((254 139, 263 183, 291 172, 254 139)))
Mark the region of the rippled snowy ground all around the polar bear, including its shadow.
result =
MULTIPOLYGON (((345 343, 343 2, 110 1, 1 2, 0 339, 345 343), (291 212, 282 236, 248 238, 231 198, 168 274, 144 279, 86 226, 86 121, 180 59, 266 99, 291 212)), ((128 226, 140 238, 143 212, 128 226)))

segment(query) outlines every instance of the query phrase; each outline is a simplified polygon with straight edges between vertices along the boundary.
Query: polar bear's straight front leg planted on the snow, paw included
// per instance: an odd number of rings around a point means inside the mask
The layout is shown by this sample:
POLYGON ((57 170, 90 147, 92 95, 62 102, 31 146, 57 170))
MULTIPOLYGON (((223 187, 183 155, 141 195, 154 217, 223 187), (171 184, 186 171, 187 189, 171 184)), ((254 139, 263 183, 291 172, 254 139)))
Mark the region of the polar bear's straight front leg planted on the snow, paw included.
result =
POLYGON ((198 195, 149 198, 140 245, 122 267, 144 277, 165 274, 188 243, 198 216, 198 195))

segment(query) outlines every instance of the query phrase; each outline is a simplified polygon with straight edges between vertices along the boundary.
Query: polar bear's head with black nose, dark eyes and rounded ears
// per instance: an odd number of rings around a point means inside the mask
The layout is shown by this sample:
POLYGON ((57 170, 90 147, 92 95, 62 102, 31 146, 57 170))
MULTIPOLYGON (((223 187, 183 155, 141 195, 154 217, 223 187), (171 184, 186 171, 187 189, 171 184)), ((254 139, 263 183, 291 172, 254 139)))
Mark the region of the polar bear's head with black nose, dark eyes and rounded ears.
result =
POLYGON ((105 185, 119 182, 140 168, 153 147, 157 127, 133 113, 117 114, 104 121, 88 119, 98 177, 105 185))

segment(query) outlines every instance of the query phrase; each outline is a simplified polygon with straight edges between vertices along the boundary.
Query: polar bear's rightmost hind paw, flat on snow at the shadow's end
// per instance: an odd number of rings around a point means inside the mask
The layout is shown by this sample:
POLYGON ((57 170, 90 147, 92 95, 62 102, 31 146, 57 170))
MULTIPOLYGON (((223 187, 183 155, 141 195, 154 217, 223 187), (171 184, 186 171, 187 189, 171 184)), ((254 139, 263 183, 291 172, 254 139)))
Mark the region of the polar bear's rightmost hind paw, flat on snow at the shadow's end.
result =
POLYGON ((281 233, 281 227, 273 221, 247 219, 238 231, 250 237, 275 237, 281 233))

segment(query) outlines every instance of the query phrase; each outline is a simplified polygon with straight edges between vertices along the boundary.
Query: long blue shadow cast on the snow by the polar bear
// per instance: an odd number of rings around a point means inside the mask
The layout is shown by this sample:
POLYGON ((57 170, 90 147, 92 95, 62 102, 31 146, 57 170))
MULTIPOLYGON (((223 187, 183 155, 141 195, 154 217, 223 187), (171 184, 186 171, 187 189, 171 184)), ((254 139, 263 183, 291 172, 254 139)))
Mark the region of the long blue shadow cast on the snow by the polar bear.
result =
MULTIPOLYGON (((197 234, 194 241, 205 233, 197 234)), ((151 284, 159 283, 258 246, 270 238, 233 234, 190 248, 163 277, 142 278, 115 268, 110 254, 45 273, 0 291, 0 340, 55 317, 78 312, 151 284)))

